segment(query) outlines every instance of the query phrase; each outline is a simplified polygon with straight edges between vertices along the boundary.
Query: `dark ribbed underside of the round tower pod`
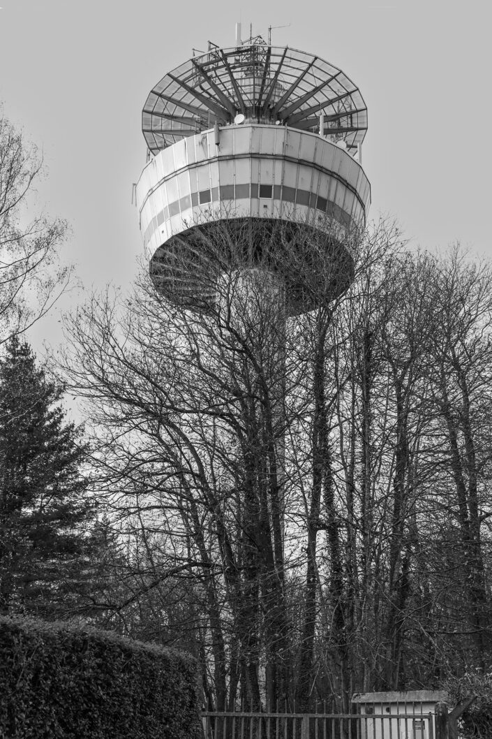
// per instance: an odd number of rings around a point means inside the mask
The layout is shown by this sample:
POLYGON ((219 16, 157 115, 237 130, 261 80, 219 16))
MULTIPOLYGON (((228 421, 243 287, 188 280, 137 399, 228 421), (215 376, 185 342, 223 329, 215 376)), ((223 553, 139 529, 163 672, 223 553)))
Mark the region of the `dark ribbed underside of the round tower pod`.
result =
POLYGON ((218 307, 216 285, 233 273, 262 270, 276 276, 287 316, 335 299, 353 276, 352 243, 339 229, 326 231, 305 222, 227 218, 171 236, 151 258, 154 285, 171 302, 191 310, 218 307))

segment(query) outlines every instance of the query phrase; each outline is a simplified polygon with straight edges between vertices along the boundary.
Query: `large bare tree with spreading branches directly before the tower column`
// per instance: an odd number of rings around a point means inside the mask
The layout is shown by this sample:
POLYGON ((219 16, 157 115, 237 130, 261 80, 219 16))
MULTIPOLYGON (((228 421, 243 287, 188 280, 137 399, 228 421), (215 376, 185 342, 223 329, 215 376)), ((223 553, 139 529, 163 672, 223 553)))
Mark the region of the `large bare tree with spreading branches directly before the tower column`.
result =
MULTIPOLYGON (((91 404, 112 496, 120 489, 132 521, 159 528, 168 544, 163 578, 177 562, 196 573, 216 705, 225 706, 230 675, 229 701, 276 706, 292 697, 290 609, 302 598, 292 602, 290 573, 304 566, 299 486, 312 469, 308 448, 304 469, 295 460, 311 443, 313 377, 312 321, 296 316, 318 305, 326 324, 334 285, 346 280, 336 250, 346 259, 355 242, 340 245, 327 230, 302 243, 281 223, 242 231, 237 222, 199 239, 196 253, 214 259, 197 265, 194 290, 169 282, 163 264, 172 302, 147 278, 122 321, 107 297, 94 299, 70 322, 66 368, 91 404)), ((174 274, 185 273, 180 251, 172 259, 174 274)), ((322 362, 324 348, 318 354, 322 362)))

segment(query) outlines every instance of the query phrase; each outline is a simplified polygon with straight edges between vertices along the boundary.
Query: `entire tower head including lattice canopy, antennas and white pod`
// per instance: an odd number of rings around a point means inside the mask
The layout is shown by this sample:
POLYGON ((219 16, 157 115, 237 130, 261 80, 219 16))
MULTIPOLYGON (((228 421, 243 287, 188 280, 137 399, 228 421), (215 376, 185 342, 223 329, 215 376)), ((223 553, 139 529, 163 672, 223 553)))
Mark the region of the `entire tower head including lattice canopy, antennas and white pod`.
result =
MULTIPOLYGON (((352 279, 346 236, 363 228, 369 208, 366 105, 344 72, 318 56, 240 36, 237 24, 234 47, 209 44, 168 72, 143 108, 148 163, 136 195, 151 277, 171 301, 206 310, 215 294, 202 273, 212 267, 219 279, 228 266, 227 250, 211 248, 213 228, 237 236, 258 222, 263 234, 281 224, 285 248, 304 250, 312 274, 309 236, 324 243, 335 298, 352 279)), ((282 255, 270 257, 256 241, 245 237, 239 269, 259 265, 273 277, 287 315, 315 307, 282 255)))

